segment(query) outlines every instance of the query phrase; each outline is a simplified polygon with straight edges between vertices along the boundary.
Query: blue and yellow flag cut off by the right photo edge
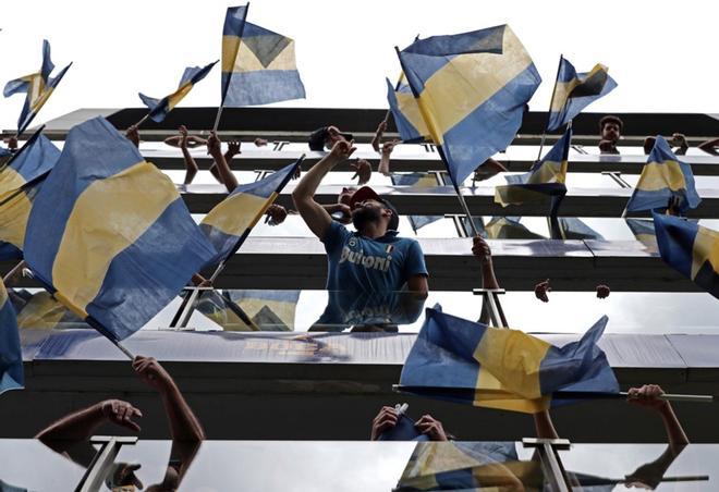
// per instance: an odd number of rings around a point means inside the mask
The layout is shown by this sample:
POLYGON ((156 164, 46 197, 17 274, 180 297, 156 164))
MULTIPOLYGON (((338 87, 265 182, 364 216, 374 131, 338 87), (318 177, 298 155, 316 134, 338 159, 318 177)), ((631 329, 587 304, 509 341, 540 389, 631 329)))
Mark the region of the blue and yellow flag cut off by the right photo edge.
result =
POLYGON ((719 298, 719 232, 672 216, 653 217, 661 259, 719 298))

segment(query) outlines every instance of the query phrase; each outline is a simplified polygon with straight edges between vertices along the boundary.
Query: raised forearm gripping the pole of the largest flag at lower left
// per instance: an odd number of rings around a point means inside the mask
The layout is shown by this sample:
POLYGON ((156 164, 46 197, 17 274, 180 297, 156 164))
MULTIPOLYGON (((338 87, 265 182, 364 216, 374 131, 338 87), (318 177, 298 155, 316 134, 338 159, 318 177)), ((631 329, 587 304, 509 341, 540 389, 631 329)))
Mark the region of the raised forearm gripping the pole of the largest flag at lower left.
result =
POLYGON ((173 441, 197 442, 205 439, 203 426, 180 393, 170 374, 153 357, 136 356, 132 362, 139 379, 155 388, 162 398, 173 441))

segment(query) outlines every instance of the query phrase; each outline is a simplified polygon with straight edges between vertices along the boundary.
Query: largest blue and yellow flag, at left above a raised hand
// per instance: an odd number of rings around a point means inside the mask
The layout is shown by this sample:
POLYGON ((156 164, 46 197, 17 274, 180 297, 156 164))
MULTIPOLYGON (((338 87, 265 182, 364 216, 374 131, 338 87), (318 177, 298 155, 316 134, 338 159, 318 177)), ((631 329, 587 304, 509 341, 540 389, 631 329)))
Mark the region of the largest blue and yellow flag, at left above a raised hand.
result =
POLYGON ((216 254, 172 182, 102 118, 68 134, 25 239, 35 279, 114 341, 139 330, 216 254))

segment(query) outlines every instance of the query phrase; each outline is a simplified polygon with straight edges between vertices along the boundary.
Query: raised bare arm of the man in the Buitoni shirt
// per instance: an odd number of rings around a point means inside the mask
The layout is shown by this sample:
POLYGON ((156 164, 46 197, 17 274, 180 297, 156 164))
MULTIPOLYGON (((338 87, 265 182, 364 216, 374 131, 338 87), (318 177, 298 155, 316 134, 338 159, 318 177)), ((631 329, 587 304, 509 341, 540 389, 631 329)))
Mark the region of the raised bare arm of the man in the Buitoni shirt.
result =
POLYGON ((300 216, 302 216, 313 234, 320 239, 325 237, 328 227, 332 223, 332 218, 322 206, 315 201, 315 193, 322 177, 355 151, 352 144, 354 144, 354 140, 350 143, 339 140, 336 143, 332 151, 307 171, 292 192, 292 199, 300 216))

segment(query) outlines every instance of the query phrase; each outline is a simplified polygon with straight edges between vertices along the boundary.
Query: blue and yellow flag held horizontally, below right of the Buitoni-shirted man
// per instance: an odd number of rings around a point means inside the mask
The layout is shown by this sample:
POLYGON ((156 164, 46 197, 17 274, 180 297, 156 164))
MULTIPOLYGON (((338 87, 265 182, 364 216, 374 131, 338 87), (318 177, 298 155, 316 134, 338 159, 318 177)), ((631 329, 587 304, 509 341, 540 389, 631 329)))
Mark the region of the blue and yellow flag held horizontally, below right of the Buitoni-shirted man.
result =
POLYGON ((401 391, 487 408, 534 414, 561 392, 618 393, 597 346, 608 318, 561 348, 517 330, 490 328, 427 309, 400 378, 401 391), (553 395, 557 393, 557 395, 553 395))

